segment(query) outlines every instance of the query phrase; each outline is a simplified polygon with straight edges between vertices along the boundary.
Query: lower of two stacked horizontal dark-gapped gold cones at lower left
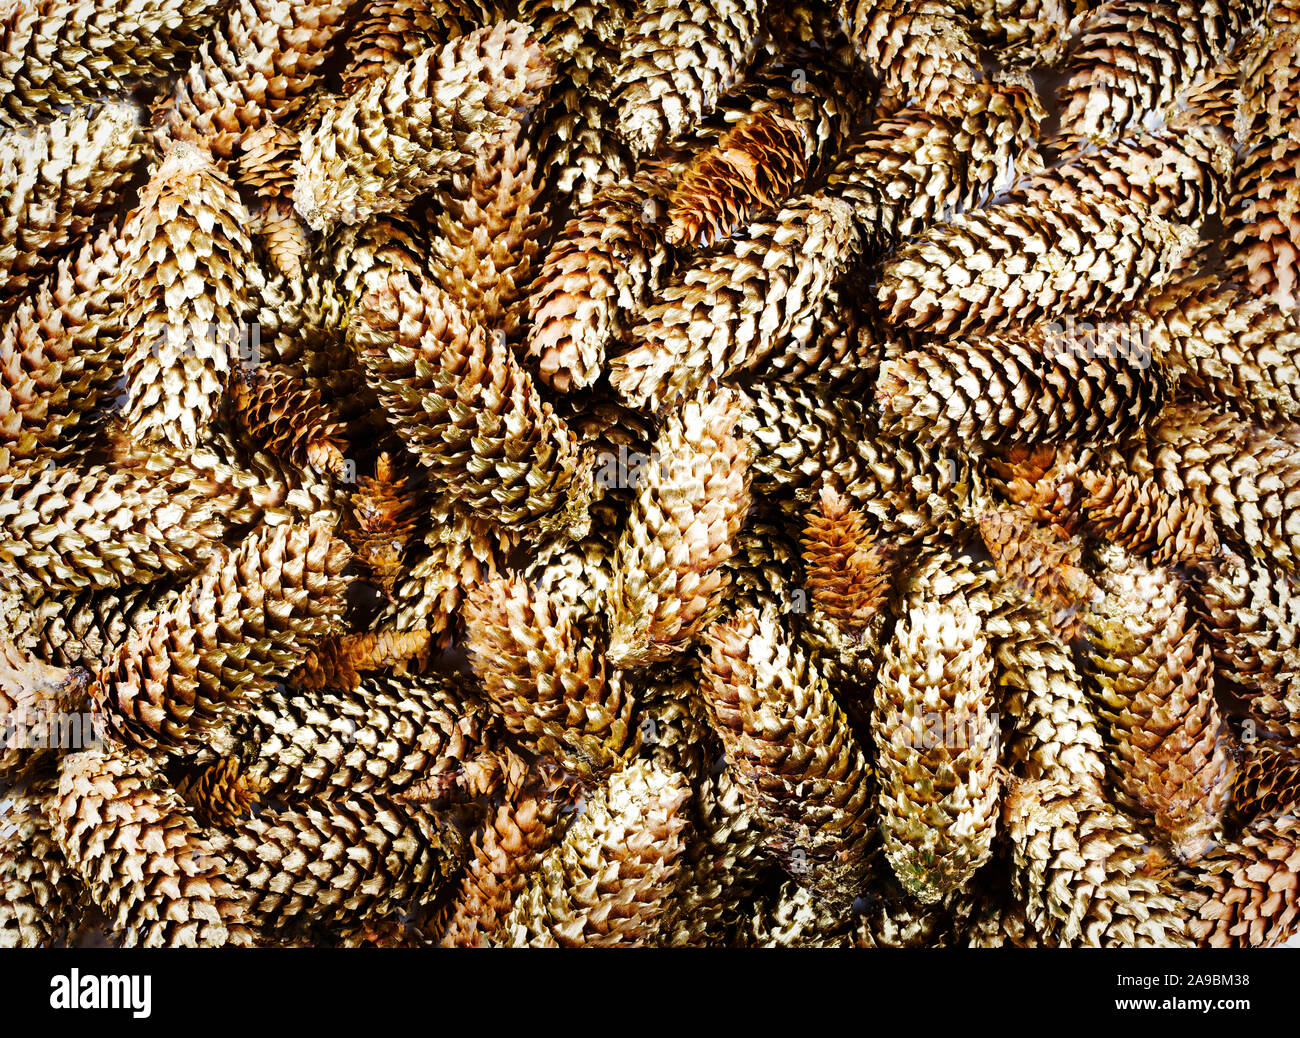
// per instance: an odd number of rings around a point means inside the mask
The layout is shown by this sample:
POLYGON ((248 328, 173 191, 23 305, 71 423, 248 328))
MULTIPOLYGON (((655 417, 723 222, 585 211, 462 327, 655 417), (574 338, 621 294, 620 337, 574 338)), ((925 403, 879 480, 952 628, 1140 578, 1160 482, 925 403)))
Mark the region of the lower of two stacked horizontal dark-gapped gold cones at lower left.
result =
POLYGON ((377 920, 422 904, 462 855, 454 825, 372 793, 265 810, 239 825, 230 843, 247 869, 248 917, 266 931, 377 920))

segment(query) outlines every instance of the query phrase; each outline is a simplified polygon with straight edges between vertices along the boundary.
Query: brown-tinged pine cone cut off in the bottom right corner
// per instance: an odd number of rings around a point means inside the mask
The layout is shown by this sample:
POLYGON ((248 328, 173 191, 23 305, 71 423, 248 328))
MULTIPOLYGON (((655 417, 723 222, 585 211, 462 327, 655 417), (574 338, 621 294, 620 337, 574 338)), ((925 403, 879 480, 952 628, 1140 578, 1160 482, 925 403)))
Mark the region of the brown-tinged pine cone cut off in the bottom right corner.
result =
POLYGON ((1179 877, 1188 931, 1214 948, 1268 948, 1300 929, 1300 834, 1294 813, 1262 816, 1179 877))

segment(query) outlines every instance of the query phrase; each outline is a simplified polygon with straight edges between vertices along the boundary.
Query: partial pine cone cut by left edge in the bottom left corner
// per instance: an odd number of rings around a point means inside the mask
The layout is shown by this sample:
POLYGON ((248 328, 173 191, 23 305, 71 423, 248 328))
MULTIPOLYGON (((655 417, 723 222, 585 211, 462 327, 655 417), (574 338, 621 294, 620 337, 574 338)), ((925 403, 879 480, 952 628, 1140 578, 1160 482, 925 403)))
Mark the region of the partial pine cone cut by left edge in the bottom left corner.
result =
POLYGON ((55 839, 57 783, 0 797, 0 948, 61 944, 81 925, 86 891, 55 839))

